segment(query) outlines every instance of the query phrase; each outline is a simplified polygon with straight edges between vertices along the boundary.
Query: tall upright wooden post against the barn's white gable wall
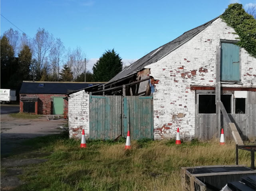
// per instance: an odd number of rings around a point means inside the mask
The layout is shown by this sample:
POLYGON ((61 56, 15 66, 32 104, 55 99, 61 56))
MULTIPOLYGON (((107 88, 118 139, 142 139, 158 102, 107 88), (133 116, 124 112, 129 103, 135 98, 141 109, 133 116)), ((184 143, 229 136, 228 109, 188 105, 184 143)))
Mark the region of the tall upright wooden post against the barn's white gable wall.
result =
POLYGON ((217 104, 218 101, 220 101, 220 46, 219 45, 216 46, 216 87, 215 87, 217 138, 220 137, 220 128, 221 128, 221 118, 220 118, 221 115, 220 115, 220 107, 217 104))

